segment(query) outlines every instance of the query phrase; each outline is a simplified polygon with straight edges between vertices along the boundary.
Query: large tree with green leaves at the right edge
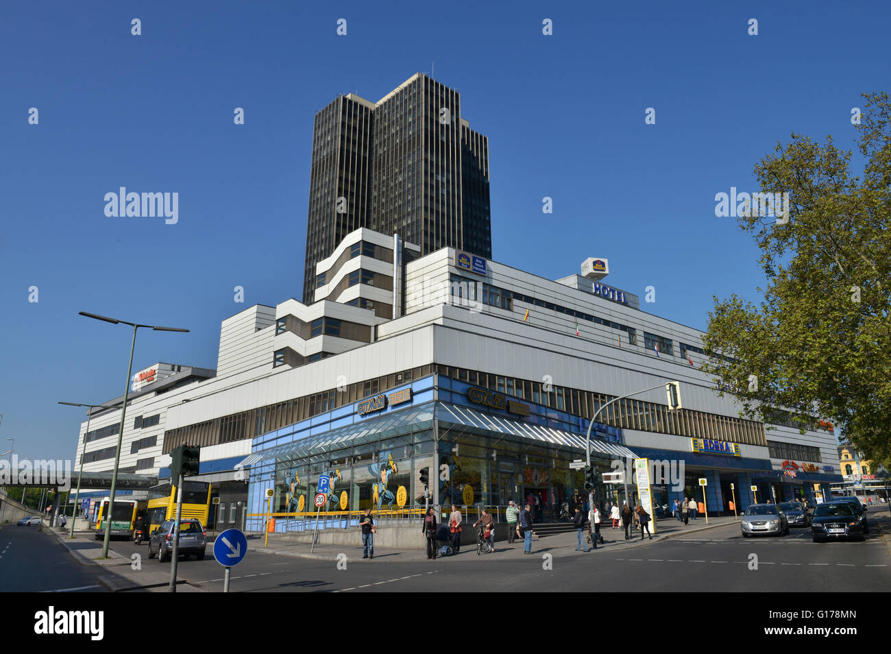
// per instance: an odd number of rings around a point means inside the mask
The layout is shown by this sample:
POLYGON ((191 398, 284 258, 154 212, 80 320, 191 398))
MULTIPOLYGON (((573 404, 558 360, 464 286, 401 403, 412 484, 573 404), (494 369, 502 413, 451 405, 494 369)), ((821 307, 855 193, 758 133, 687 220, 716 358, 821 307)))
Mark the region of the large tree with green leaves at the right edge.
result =
MULTIPOLYGON (((891 102, 863 94, 851 121, 862 162, 791 135, 755 166, 762 190, 788 193, 788 213, 738 217, 761 249, 759 305, 715 299, 703 364, 743 413, 765 423, 784 407, 803 429, 823 418, 868 458, 891 462, 891 102)), ((763 207, 762 207, 763 208, 763 207)))

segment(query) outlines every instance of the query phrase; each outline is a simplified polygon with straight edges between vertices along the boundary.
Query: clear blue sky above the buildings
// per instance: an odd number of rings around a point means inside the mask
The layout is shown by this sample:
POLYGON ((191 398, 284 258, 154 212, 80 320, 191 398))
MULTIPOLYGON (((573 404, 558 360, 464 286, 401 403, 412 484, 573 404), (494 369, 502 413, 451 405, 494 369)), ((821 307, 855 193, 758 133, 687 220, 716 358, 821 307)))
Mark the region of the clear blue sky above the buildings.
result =
POLYGON ((192 330, 140 331, 134 370, 213 368, 220 321, 298 297, 315 112, 434 66, 489 138, 496 261, 556 279, 606 257, 700 329, 713 295, 757 299, 715 193, 756 191, 793 131, 851 147, 860 94, 888 87, 887 3, 777 5, 0 4, 0 452, 71 457, 82 413, 56 402, 123 391, 130 332, 78 311, 192 330), (106 217, 120 186, 178 192, 179 222, 106 217))

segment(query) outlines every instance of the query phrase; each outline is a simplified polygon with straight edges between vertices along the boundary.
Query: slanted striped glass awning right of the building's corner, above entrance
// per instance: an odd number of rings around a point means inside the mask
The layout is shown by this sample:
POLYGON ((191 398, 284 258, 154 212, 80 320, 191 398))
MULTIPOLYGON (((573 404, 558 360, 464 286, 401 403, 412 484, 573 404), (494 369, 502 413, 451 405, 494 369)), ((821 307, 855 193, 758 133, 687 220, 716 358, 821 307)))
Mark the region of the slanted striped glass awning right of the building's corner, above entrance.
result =
MULTIPOLYGON (((446 405, 437 402, 436 418, 439 421, 453 422, 466 427, 487 429, 502 434, 513 434, 523 438, 529 438, 541 443, 552 445, 575 447, 584 452, 584 436, 573 434, 571 431, 554 429, 542 425, 534 425, 523 421, 515 421, 510 418, 482 413, 463 406, 446 405)), ((598 438, 591 439, 591 451, 593 454, 605 454, 615 458, 636 458, 634 452, 617 443, 607 443, 598 438)))

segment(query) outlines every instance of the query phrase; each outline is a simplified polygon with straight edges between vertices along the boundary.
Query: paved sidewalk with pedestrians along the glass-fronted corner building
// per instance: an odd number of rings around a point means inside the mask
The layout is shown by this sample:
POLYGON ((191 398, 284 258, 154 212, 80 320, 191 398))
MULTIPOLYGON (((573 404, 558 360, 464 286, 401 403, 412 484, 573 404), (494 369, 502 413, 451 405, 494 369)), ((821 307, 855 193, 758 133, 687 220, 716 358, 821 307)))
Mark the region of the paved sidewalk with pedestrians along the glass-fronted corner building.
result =
MULTIPOLYGON (((601 523, 601 536, 607 541, 606 544, 598 545, 598 551, 618 552, 621 550, 630 550, 635 547, 657 544, 669 538, 690 535, 712 529, 715 527, 724 527, 726 525, 738 524, 739 518, 709 518, 706 525, 705 517, 691 520, 689 525, 684 525, 676 519, 660 519, 657 524, 658 534, 654 535, 652 540, 645 538, 641 540, 641 532, 637 531, 634 535, 636 538, 625 540, 625 534, 622 529, 611 528, 610 522, 601 523)), ((585 544, 585 546, 590 546, 585 544)), ((549 535, 544 538, 533 536, 532 551, 537 553, 569 553, 576 549, 576 532, 572 531, 567 534, 549 535)), ((459 556, 476 553, 475 545, 462 545, 459 556)), ((346 554, 347 559, 362 558, 362 544, 359 538, 356 538, 356 545, 344 544, 317 544, 310 552, 310 544, 308 543, 292 543, 282 538, 276 538, 274 535, 269 537, 269 546, 264 547, 263 536, 250 536, 248 538, 248 552, 280 554, 282 556, 297 556, 304 559, 316 560, 337 560, 340 554, 346 554)), ((523 541, 519 539, 513 544, 507 541, 495 542, 495 556, 508 559, 520 559, 523 557, 523 541)), ((395 561, 421 561, 427 560, 427 552, 424 550, 391 550, 379 547, 374 548, 374 558, 395 561)))

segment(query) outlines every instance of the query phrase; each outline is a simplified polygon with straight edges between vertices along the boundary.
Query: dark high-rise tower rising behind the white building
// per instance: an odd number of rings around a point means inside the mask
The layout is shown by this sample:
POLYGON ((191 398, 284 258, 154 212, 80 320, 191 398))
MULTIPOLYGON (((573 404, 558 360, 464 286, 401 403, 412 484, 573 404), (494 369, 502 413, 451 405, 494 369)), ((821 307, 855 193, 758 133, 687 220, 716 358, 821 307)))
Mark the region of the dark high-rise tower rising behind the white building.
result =
POLYGON ((304 304, 315 265, 359 227, 398 233, 421 255, 492 258, 488 139, 462 121, 461 95, 425 75, 373 109, 340 96, 316 114, 309 195, 304 304))

